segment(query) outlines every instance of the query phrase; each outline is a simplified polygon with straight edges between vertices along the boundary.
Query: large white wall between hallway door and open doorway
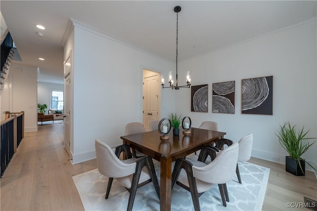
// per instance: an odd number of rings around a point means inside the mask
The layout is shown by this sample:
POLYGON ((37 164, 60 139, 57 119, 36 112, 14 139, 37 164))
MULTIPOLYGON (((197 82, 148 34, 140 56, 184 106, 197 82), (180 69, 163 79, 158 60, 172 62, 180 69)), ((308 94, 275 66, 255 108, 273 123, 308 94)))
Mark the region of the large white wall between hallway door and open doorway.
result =
MULTIPOLYGON (((70 41, 65 48, 74 55, 73 163, 78 163, 95 158, 96 138, 121 144, 126 124, 142 122, 143 68, 167 75, 175 65, 78 23, 74 46, 70 41)), ((162 93, 163 116, 174 110, 173 96, 162 93)))

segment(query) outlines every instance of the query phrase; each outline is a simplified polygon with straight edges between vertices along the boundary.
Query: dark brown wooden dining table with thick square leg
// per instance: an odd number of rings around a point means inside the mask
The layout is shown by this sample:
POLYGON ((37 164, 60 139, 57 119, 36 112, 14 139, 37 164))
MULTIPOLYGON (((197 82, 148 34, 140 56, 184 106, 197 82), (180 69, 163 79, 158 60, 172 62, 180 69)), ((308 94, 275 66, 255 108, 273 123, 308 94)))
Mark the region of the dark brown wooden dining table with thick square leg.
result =
POLYGON ((180 129, 179 135, 173 135, 171 130, 165 140, 160 139, 158 130, 120 137, 123 144, 160 162, 160 211, 170 211, 171 208, 172 162, 217 142, 226 134, 195 127, 190 131, 183 134, 180 129))

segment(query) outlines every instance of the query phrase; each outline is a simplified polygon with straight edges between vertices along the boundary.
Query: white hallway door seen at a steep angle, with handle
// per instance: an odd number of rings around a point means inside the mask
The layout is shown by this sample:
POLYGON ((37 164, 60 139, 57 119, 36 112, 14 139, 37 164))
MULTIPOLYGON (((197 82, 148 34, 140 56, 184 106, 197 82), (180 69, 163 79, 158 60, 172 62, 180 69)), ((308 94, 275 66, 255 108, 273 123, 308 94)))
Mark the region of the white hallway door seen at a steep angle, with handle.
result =
POLYGON ((71 61, 70 57, 65 62, 65 76, 64 76, 64 148, 66 149, 70 159, 71 158, 71 138, 70 138, 70 128, 71 128, 71 98, 70 98, 70 74, 71 74, 71 61))

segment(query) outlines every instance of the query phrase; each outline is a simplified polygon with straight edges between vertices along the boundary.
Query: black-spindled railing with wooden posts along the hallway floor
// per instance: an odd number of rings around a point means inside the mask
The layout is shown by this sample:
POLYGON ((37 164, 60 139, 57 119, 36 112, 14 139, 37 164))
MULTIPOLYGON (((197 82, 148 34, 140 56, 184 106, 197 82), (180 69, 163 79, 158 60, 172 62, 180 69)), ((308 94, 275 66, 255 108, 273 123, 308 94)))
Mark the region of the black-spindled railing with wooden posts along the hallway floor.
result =
POLYGON ((7 119, 1 121, 0 164, 1 175, 9 165, 17 147, 24 137, 24 111, 20 113, 5 112, 7 119))

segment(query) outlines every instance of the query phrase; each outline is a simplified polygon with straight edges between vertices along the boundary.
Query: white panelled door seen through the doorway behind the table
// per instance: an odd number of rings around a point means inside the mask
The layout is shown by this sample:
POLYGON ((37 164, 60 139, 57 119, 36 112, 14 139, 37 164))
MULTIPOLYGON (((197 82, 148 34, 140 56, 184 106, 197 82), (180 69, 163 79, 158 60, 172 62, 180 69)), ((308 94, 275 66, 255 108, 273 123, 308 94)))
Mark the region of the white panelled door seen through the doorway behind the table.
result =
POLYGON ((143 125, 149 130, 150 122, 159 120, 159 75, 143 79, 143 125))

